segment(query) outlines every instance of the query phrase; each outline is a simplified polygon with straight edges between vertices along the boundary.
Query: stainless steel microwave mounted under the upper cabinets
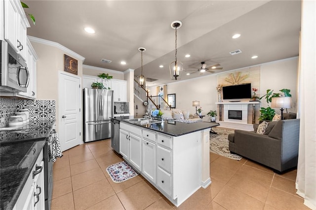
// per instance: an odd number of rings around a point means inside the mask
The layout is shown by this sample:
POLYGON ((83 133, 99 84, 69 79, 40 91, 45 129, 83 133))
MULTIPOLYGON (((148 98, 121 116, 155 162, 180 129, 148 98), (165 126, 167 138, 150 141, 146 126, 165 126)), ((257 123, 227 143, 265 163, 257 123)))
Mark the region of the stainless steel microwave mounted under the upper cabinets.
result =
POLYGON ((26 62, 6 41, 1 41, 0 92, 27 92, 30 73, 26 62))

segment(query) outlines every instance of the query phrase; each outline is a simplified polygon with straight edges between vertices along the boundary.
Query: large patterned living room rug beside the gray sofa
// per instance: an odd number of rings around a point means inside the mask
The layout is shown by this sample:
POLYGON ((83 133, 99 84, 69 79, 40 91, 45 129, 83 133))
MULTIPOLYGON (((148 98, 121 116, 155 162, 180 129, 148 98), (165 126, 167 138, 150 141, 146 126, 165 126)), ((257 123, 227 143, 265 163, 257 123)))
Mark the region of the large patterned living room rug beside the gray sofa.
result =
POLYGON ((241 160, 242 157, 237 154, 231 154, 228 149, 228 134, 234 133, 234 130, 226 130, 220 128, 212 129, 217 134, 210 133, 209 135, 209 149, 210 152, 228 157, 234 160, 241 160))

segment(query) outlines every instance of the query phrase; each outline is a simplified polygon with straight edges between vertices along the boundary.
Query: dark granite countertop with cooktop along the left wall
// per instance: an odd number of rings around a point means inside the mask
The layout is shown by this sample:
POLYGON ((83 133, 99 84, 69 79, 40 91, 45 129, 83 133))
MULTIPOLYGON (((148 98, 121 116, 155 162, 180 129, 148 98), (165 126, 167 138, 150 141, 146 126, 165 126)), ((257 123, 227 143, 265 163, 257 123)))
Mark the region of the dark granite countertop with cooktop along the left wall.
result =
POLYGON ((14 207, 53 124, 37 121, 27 129, 0 132, 0 210, 14 207))

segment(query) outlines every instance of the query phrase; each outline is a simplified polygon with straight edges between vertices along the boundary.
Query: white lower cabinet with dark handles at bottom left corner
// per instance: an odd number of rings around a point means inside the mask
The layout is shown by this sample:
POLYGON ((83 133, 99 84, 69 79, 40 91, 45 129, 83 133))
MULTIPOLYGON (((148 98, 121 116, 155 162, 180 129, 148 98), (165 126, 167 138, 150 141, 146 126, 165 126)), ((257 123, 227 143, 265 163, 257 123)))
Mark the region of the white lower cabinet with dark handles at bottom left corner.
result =
POLYGON ((40 152, 13 210, 44 210, 44 161, 40 152))

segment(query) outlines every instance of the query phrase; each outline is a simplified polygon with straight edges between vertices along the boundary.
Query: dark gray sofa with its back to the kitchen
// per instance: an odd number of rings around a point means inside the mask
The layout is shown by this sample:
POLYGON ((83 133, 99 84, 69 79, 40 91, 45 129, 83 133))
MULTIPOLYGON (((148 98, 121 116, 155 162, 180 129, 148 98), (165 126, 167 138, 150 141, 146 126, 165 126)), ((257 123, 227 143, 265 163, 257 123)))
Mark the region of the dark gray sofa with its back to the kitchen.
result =
POLYGON ((229 150, 268 166, 277 174, 297 167, 300 119, 269 122, 266 132, 235 130, 228 136, 229 150))

